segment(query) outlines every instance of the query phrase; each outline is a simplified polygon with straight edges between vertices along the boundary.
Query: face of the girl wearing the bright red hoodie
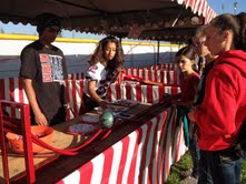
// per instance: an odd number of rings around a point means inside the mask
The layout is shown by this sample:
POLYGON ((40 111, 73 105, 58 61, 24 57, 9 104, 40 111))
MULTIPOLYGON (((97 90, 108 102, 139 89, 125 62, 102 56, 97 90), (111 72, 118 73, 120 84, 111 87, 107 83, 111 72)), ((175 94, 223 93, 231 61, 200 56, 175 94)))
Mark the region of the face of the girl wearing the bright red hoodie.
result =
POLYGON ((218 55, 225 52, 224 33, 218 28, 208 25, 206 29, 205 45, 209 49, 213 55, 218 55))

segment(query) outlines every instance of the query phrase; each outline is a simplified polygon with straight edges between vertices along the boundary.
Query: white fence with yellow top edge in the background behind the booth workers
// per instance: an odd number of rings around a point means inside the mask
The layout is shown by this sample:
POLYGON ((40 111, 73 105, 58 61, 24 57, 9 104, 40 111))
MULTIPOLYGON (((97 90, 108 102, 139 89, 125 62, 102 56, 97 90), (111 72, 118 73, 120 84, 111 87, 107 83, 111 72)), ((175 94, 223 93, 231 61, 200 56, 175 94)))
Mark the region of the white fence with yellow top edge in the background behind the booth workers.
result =
MULTIPOLYGON (((21 50, 33 40, 33 35, 0 34, 0 79, 17 78, 20 69, 21 50)), ((98 40, 58 38, 53 43, 66 57, 69 73, 82 73, 88 68, 88 60, 98 40)), ((157 64, 157 43, 122 42, 125 68, 136 68, 157 64)), ((160 44, 159 63, 173 62, 177 44, 160 44)))

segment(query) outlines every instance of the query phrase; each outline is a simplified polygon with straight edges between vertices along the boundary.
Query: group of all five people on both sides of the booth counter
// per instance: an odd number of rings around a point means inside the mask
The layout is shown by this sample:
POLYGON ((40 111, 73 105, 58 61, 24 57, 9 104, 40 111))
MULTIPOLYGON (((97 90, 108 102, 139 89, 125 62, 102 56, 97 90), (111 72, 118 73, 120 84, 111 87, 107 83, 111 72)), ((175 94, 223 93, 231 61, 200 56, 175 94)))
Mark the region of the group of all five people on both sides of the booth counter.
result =
MULTIPOLYGON (((21 52, 20 76, 33 124, 55 125, 66 120, 66 60, 51 44, 60 29, 57 16, 38 16, 39 40, 21 52)), ((194 163, 191 176, 199 184, 238 184, 242 159, 235 152, 235 140, 246 119, 246 13, 216 17, 199 27, 191 41, 176 54, 181 93, 169 99, 183 116, 194 163)), ((100 40, 86 72, 80 114, 97 106, 107 109, 108 85, 117 80, 122 63, 119 40, 100 40)))

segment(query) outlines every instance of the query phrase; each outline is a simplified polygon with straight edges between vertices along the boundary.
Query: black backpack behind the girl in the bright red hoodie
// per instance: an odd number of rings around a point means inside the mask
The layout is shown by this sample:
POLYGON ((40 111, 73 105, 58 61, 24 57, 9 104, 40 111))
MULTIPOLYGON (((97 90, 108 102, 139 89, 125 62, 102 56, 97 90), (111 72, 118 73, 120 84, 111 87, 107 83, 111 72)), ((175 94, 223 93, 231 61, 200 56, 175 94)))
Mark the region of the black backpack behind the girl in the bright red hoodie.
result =
POLYGON ((246 119, 239 129, 235 151, 238 156, 246 160, 246 119))

